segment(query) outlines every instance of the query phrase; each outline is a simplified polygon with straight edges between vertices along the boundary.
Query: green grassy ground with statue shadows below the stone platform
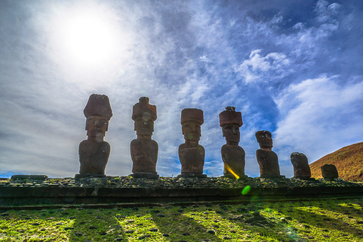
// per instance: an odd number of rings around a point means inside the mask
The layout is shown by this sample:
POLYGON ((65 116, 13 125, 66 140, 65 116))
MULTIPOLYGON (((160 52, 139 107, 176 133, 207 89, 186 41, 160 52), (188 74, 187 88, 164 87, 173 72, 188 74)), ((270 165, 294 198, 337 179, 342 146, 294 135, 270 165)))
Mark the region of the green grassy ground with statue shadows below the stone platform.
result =
POLYGON ((0 214, 0 241, 358 242, 363 241, 362 208, 363 198, 138 210, 8 210, 0 214), (264 228, 244 222, 253 212, 266 218, 264 228))

